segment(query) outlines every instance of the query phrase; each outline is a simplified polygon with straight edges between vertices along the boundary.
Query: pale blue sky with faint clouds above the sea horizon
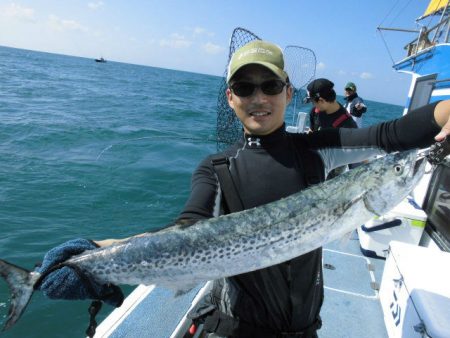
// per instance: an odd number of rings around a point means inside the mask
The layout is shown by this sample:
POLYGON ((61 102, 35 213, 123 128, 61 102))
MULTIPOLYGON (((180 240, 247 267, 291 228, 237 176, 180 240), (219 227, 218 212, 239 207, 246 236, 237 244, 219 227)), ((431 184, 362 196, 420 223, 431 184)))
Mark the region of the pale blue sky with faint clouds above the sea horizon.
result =
MULTIPOLYGON (((0 0, 0 45, 222 76, 233 29, 314 51, 315 77, 404 105, 405 57, 428 0, 0 0)), ((424 21, 428 23, 427 20, 424 21)), ((0 60, 1 62, 1 60, 0 60)))

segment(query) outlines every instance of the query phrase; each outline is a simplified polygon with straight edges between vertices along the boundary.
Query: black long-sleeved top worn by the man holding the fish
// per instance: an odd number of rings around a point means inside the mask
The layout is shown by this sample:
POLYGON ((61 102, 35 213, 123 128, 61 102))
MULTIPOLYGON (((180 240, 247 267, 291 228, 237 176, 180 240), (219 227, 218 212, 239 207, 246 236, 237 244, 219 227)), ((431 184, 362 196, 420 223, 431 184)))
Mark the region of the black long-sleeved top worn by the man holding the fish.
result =
MULTIPOLYGON (((326 174, 335 167, 375 154, 429 146, 440 130, 434 121, 434 106, 430 104, 398 120, 369 128, 288 134, 283 126, 268 136, 246 135, 223 155, 230 158, 231 175, 244 208, 248 209, 306 186, 303 174, 308 163, 302 161, 300 149, 318 154, 326 174)), ((213 217, 219 191, 208 157, 193 174, 192 192, 179 218, 213 217)), ((215 282, 214 287, 221 290, 205 299, 220 311, 271 332, 301 331, 318 318, 322 304, 321 249, 215 282)))

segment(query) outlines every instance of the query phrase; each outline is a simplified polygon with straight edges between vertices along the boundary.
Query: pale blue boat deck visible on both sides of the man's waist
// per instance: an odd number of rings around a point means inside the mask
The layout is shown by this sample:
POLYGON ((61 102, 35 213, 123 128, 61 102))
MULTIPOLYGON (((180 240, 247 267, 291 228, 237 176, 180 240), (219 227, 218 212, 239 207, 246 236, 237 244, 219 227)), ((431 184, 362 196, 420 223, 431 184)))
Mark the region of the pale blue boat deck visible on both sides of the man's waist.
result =
MULTIPOLYGON (((388 337, 377 290, 384 262, 361 254, 356 231, 324 247, 321 338, 388 337)), ((204 291, 199 286, 175 298, 169 290, 140 286, 99 325, 95 337, 182 337, 173 332, 204 291)))

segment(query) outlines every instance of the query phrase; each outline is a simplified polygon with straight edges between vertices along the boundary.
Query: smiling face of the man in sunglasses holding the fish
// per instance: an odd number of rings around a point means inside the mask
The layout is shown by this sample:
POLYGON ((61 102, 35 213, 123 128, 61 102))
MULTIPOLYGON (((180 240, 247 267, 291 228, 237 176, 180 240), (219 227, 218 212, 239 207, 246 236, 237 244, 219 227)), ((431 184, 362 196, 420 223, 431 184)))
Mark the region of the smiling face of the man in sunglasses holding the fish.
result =
MULTIPOLYGON (((248 82, 256 85, 279 78, 260 65, 243 67, 231 80, 231 85, 248 82)), ((284 81, 284 79, 283 79, 284 81)), ((292 87, 283 87, 276 95, 264 94, 260 87, 246 97, 240 97, 229 88, 226 91, 228 104, 244 125, 244 131, 253 135, 268 135, 284 123, 286 106, 292 99, 292 87)))

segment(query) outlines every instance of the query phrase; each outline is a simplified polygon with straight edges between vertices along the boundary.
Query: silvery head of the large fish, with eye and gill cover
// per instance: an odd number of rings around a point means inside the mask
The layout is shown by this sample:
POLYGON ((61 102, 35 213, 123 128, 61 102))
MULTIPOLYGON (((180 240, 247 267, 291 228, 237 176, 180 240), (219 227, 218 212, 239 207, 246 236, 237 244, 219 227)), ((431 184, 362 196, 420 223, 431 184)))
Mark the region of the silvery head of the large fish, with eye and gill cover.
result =
POLYGON ((397 206, 422 178, 425 164, 425 158, 418 157, 416 150, 390 154, 369 163, 367 179, 372 184, 368 184, 371 188, 364 196, 366 208, 381 216, 397 206))

